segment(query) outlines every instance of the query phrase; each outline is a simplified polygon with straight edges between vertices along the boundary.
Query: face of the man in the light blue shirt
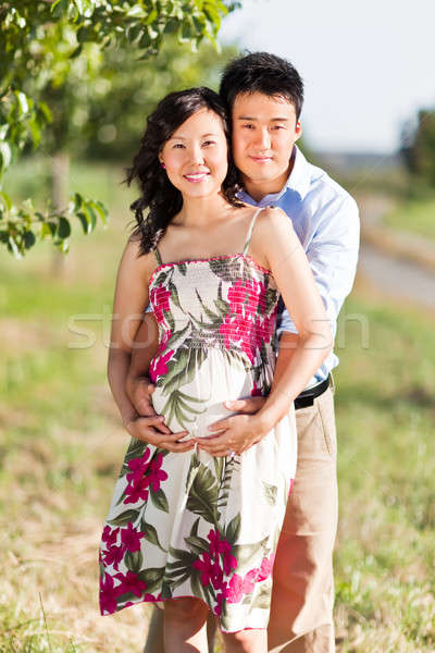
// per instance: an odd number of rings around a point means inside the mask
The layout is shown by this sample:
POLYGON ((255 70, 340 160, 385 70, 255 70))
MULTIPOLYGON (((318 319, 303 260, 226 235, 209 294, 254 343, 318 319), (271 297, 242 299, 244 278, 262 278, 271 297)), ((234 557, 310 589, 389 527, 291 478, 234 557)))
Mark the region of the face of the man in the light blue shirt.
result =
POLYGON ((295 141, 301 134, 288 100, 262 93, 238 95, 233 106, 233 156, 247 190, 277 193, 289 174, 295 141))

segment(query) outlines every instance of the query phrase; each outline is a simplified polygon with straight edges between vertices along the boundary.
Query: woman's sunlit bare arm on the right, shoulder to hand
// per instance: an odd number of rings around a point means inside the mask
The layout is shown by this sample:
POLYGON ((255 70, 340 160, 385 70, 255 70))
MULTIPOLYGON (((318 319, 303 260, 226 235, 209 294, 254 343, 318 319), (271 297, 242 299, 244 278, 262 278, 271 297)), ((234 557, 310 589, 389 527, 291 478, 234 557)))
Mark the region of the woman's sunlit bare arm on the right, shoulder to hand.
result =
POLYGON ((211 440, 197 441, 198 446, 217 456, 227 455, 228 451, 241 453, 259 442, 288 412, 333 347, 330 320, 307 256, 281 209, 260 213, 252 250, 268 261, 298 335, 290 335, 288 350, 279 350, 272 389, 260 410, 215 422, 209 427, 211 432, 225 431, 211 440))

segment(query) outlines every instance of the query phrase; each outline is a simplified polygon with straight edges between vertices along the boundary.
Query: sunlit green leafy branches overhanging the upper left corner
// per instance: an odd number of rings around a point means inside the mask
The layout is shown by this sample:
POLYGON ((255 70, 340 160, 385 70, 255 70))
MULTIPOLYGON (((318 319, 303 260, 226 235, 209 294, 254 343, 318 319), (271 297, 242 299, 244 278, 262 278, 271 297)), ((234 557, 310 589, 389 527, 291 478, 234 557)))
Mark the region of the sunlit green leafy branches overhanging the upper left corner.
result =
POLYGON ((77 193, 67 207, 47 206, 41 212, 29 199, 14 206, 2 188, 8 168, 29 147, 37 148, 42 133, 55 141, 60 125, 53 121, 50 97, 54 107, 67 95, 70 75, 78 71, 82 82, 96 81, 108 61, 105 51, 115 46, 120 51, 134 50, 136 59, 145 61, 160 51, 171 34, 194 48, 203 39, 215 42, 222 17, 238 5, 231 0, 0 4, 0 242, 10 252, 21 257, 45 238, 66 251, 72 218, 80 220, 85 233, 98 220, 105 221, 103 205, 77 193))

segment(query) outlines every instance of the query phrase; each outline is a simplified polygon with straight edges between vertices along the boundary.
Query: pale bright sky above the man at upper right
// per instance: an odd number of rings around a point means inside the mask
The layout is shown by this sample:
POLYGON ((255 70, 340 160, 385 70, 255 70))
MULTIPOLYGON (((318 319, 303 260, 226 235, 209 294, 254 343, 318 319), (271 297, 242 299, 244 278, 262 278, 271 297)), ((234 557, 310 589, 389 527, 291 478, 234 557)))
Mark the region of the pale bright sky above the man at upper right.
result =
POLYGON ((405 121, 435 108, 434 28, 434 0, 244 0, 220 40, 291 61, 313 149, 390 153, 405 121))

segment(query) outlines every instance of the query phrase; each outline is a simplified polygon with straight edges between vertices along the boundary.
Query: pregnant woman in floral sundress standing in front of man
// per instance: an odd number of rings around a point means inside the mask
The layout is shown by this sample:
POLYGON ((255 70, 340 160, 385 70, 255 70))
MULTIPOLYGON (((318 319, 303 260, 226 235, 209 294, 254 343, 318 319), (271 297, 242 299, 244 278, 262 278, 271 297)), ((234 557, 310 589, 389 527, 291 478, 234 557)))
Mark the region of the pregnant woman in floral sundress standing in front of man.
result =
POLYGON ((164 98, 127 180, 141 197, 116 281, 109 380, 132 442, 102 534, 101 613, 158 602, 166 652, 206 653, 211 611, 228 653, 265 653, 296 465, 293 402, 331 350, 328 321, 288 218, 237 200, 216 94, 164 98), (281 295, 299 342, 274 377, 281 295), (175 434, 159 446, 124 391, 148 303, 159 325, 152 402, 175 434), (262 409, 226 419, 216 449, 209 427, 228 417, 223 402, 254 394, 268 395, 262 409))

